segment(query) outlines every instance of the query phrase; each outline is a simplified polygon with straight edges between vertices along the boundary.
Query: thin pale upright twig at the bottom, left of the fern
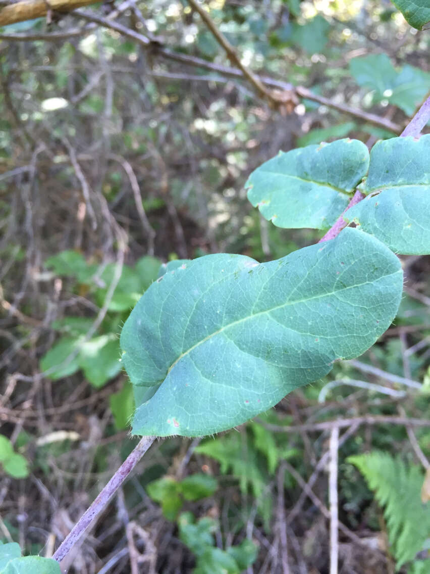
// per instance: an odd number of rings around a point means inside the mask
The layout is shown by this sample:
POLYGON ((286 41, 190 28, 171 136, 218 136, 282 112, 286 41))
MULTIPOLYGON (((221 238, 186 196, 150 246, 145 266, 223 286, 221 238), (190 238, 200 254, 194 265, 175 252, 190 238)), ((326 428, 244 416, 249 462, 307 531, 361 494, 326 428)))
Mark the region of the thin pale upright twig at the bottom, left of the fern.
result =
POLYGON ((329 502, 330 502, 330 574, 338 574, 339 560, 339 510, 338 510, 338 448, 339 428, 331 429, 329 464, 329 502))

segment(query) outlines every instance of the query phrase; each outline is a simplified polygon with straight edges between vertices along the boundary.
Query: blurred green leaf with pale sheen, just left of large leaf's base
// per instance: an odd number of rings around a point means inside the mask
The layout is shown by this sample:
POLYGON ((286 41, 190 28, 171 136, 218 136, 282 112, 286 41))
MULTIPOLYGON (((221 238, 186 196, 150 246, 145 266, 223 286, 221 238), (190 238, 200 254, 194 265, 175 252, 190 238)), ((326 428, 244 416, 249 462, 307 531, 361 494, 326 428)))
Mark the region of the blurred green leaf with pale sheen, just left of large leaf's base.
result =
POLYGON ((119 341, 111 333, 84 343, 77 359, 91 385, 99 388, 120 373, 122 364, 119 358, 119 341))

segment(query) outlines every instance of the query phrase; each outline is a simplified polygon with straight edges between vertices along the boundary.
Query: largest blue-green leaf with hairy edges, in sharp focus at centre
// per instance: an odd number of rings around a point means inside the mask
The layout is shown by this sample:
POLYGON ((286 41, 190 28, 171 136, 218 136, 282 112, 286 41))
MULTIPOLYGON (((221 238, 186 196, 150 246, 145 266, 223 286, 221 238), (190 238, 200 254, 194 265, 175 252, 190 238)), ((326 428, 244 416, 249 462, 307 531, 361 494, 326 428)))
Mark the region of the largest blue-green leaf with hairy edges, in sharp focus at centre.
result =
POLYGON ((166 273, 121 334, 131 382, 154 389, 133 432, 201 436, 247 421, 362 354, 401 291, 397 257, 351 228, 277 261, 206 255, 166 273))

